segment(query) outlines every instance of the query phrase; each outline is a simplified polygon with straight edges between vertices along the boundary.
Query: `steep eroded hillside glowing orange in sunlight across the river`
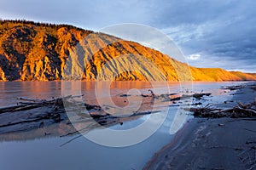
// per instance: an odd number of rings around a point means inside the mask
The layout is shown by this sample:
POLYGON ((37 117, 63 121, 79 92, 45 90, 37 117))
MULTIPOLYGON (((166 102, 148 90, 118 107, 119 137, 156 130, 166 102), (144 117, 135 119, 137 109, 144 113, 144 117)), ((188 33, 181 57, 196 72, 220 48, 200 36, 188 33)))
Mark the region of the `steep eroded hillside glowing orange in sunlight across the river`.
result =
POLYGON ((241 81, 256 75, 199 69, 152 48, 74 26, 0 21, 0 81, 241 81))

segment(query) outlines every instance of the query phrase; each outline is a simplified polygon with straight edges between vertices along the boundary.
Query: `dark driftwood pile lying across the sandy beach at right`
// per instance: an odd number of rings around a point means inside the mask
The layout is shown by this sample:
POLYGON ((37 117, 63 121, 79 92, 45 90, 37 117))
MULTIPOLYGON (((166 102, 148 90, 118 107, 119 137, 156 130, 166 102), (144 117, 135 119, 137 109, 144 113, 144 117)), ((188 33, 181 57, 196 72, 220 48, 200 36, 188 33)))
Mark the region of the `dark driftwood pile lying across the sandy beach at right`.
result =
POLYGON ((186 111, 193 112, 194 116, 200 117, 255 117, 256 116, 256 102, 242 104, 237 102, 236 106, 225 109, 216 109, 216 105, 206 105, 198 108, 184 108, 186 111))

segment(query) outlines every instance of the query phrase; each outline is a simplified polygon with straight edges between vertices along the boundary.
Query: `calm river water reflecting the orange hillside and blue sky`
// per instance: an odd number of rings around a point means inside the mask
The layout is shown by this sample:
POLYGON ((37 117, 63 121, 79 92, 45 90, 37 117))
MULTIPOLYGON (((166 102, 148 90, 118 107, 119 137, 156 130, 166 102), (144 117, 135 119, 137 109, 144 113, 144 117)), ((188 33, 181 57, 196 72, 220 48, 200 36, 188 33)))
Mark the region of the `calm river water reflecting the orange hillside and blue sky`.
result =
MULTIPOLYGON (((98 99, 108 100, 109 91, 113 104, 124 108, 122 111, 125 111, 132 108, 127 108, 129 99, 121 98, 120 94, 148 94, 148 89, 152 89, 155 94, 179 94, 191 90, 194 92, 204 91, 212 92, 212 96, 192 102, 204 103, 207 100, 212 103, 223 103, 224 100, 231 99, 232 96, 219 88, 239 83, 242 82, 194 82, 192 87, 189 83, 170 82, 166 85, 166 83, 159 82, 152 85, 150 82, 113 82, 108 90, 106 88, 108 85, 104 83, 96 85, 96 82, 81 82, 79 88, 81 88, 80 93, 84 94, 84 102, 93 105, 100 103, 98 99), (100 94, 97 94, 96 90, 100 94)), ((70 90, 72 91, 72 89, 70 90)), ((51 99, 60 97, 61 94, 63 94, 61 82, 0 82, 0 107, 16 105, 18 97, 51 99)), ((132 105, 138 102, 137 99, 130 100, 132 105)), ((132 105, 130 107, 133 107, 132 105)), ((191 118, 191 116, 182 115, 178 111, 178 107, 170 106, 168 102, 155 102, 154 105, 156 105, 156 110, 166 111, 165 121, 147 139, 143 139, 138 144, 128 144, 125 147, 109 147, 84 137, 67 143, 76 135, 60 138, 58 133, 45 137, 38 137, 35 131, 0 134, 0 169, 142 169, 154 153, 170 143, 174 133, 189 117, 191 118), (179 119, 179 116, 182 119, 179 119), (174 119, 177 120, 178 125, 170 130, 174 119), (172 133, 170 133, 171 131, 172 133)), ((113 111, 113 114, 118 115, 123 113, 122 111, 113 111)), ((157 114, 160 116, 161 113, 157 114)), ((131 129, 147 119, 148 116, 141 116, 136 120, 124 122, 122 126, 118 124, 111 128, 115 130, 131 129)), ((137 133, 137 138, 140 138, 142 133, 137 133)), ((111 137, 107 135, 104 138, 111 137)))

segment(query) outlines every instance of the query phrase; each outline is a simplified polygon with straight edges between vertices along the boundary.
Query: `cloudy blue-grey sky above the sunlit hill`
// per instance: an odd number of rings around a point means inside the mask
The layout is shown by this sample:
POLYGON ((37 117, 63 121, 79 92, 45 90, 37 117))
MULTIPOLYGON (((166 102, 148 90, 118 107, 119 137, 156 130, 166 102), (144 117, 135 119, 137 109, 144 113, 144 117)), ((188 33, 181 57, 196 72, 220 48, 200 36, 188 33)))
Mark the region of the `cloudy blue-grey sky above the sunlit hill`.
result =
POLYGON ((0 0, 2 19, 67 23, 98 31, 122 23, 166 33, 190 65, 256 72, 254 0, 0 0))

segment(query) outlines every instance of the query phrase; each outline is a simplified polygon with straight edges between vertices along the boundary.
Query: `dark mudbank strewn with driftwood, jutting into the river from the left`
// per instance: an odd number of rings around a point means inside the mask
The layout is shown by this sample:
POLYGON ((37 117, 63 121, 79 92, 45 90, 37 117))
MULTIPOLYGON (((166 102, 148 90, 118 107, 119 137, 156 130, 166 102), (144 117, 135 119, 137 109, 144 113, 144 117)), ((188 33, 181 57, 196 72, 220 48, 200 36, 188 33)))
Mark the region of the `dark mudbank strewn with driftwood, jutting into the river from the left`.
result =
POLYGON ((65 105, 69 104, 74 106, 73 111, 80 117, 81 122, 91 122, 97 124, 96 127, 123 124, 122 119, 125 118, 160 112, 137 111, 127 116, 113 116, 102 111, 99 105, 88 105, 75 100, 82 96, 70 95, 56 99, 19 98, 17 105, 0 108, 0 134, 32 130, 58 122, 71 124, 65 110, 65 105))

